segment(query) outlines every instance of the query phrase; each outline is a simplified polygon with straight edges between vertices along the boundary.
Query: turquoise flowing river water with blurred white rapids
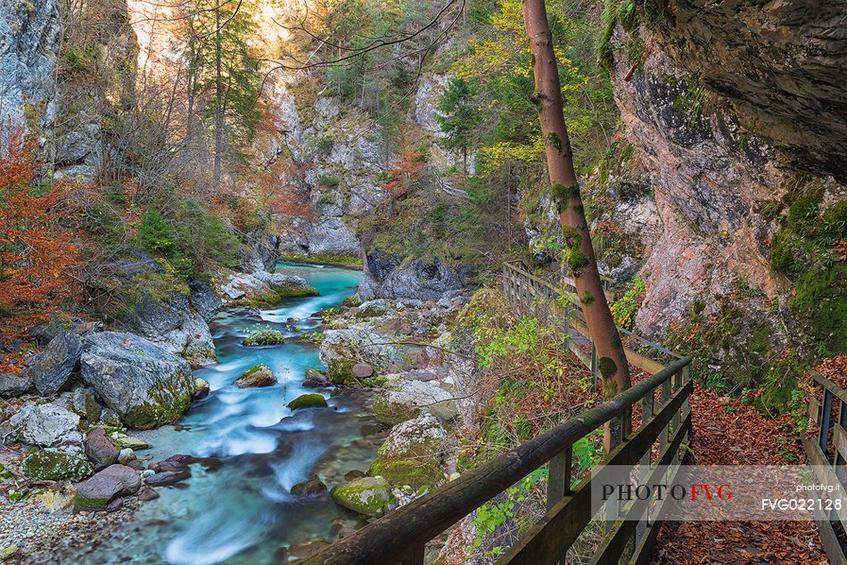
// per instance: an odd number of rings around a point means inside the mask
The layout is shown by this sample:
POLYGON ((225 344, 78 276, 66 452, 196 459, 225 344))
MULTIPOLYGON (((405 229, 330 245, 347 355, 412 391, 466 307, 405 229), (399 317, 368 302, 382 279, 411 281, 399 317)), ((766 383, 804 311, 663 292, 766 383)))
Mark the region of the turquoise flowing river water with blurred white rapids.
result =
POLYGON ((341 527, 363 521, 327 495, 298 497, 291 487, 319 477, 332 487, 345 472, 366 471, 379 446, 361 430, 374 422, 364 393, 345 391, 330 397, 328 408, 286 407, 305 392, 303 373, 320 366, 317 347, 296 337, 314 332, 314 314, 337 306, 356 291, 359 273, 335 267, 280 264, 281 272, 299 274, 320 296, 290 299, 257 312, 230 308, 218 315, 211 331, 219 364, 195 375, 210 383, 209 397, 195 402, 179 426, 137 433, 152 445, 138 452, 150 461, 172 454, 219 457, 213 470, 192 465, 192 477, 160 488, 160 498, 145 503, 135 518, 103 540, 85 561, 91 563, 277 563, 297 545, 333 540, 341 527), (289 318, 300 322, 286 323, 289 318), (256 324, 284 332, 284 345, 244 348, 243 337, 256 324), (238 389, 232 382, 258 363, 276 374, 273 387, 238 389))

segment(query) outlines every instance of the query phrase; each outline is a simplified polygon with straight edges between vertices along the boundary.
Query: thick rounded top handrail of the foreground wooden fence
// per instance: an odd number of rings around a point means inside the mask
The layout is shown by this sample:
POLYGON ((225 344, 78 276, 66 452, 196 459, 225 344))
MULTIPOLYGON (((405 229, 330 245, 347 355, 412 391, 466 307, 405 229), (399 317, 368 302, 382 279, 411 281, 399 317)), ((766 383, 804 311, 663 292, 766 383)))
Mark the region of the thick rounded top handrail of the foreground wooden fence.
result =
MULTIPOLYGON (((423 545, 433 537, 440 535, 456 521, 499 495, 530 472, 565 450, 569 450, 580 438, 584 438, 615 417, 629 417, 632 405, 643 398, 649 396, 652 404, 654 389, 662 386, 663 389, 667 387, 670 390, 671 378, 680 374, 690 363, 691 357, 679 359, 613 399, 498 455, 489 463, 465 472, 458 479, 368 524, 365 528, 341 539, 305 562, 309 565, 396 563, 403 561, 410 552, 419 551, 423 555, 423 545)), ((680 379, 674 379, 674 381, 677 384, 680 383, 680 379)), ((677 402, 681 405, 687 399, 690 389, 690 382, 682 383, 679 393, 682 393, 684 398, 676 400, 675 396, 672 400, 670 396, 666 397, 662 407, 677 407, 677 402)), ((662 415, 662 422, 665 417, 666 415, 662 415)), ((650 422, 652 421, 647 421, 646 426, 651 426, 650 422)), ((656 431, 654 427, 657 426, 658 423, 650 427, 651 435, 654 435, 653 432, 656 431)), ((654 438, 650 440, 649 445, 653 444, 654 438)), ((619 452, 629 453, 626 452, 627 449, 621 446, 619 452)), ((618 452, 613 452, 613 457, 615 453, 618 452)), ((631 459, 629 454, 625 459, 627 461, 631 459)))

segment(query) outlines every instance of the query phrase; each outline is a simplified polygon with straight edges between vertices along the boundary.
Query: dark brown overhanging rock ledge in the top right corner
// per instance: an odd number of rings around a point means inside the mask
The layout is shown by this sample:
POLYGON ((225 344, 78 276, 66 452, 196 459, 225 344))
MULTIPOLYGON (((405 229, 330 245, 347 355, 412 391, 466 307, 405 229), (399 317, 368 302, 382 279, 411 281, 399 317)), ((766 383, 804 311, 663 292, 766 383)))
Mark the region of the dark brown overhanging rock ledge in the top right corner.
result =
POLYGON ((792 168, 847 182, 847 9, 839 0, 648 0, 662 50, 730 99, 792 168))

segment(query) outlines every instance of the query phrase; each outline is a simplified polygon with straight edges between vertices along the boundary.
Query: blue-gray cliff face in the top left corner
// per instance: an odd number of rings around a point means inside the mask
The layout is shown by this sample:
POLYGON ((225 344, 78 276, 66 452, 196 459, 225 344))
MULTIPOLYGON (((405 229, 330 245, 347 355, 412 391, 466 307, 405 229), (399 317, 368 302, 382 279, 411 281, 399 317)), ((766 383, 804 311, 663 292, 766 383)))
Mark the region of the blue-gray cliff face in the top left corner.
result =
POLYGON ((53 102, 61 37, 59 4, 0 0, 0 119, 23 125, 29 106, 46 111, 53 102))

